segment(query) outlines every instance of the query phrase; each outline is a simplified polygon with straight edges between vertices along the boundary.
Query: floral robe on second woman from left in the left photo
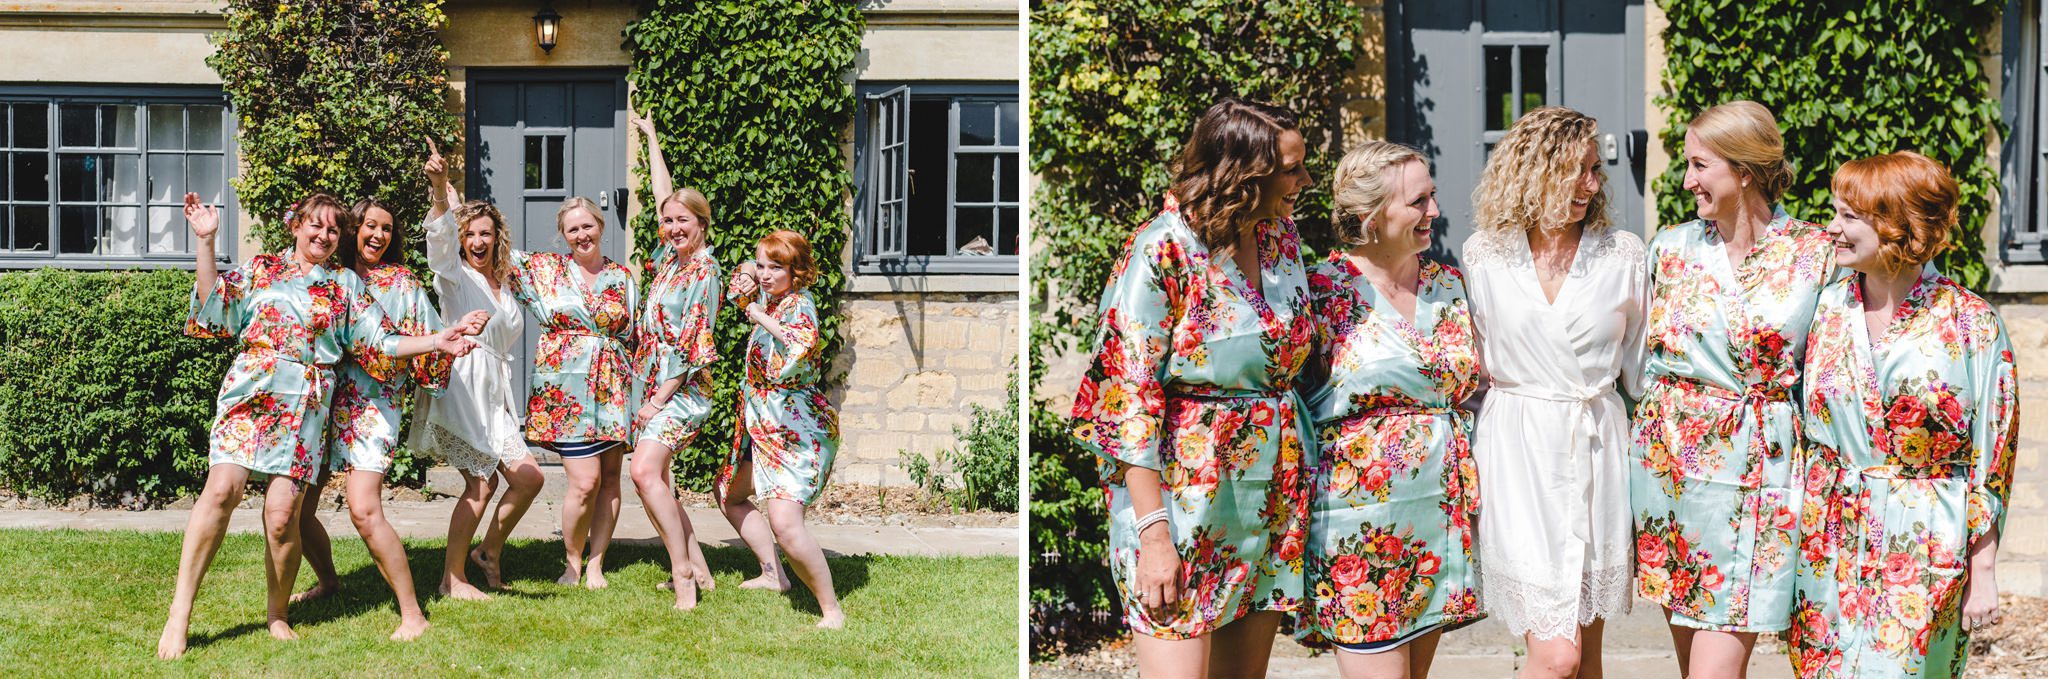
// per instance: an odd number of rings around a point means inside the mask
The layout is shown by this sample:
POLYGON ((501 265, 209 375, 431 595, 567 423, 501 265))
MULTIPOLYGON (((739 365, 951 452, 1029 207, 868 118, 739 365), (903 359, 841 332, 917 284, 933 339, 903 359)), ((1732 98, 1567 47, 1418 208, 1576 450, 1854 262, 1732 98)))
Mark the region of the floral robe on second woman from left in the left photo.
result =
MULTIPOLYGON (((385 317, 401 335, 432 335, 440 329, 440 313, 434 301, 426 299, 426 286, 401 264, 383 264, 362 276, 362 288, 371 303, 383 309, 385 317)), ((328 466, 334 470, 356 468, 365 472, 391 470, 391 456, 397 452, 397 429, 403 423, 397 399, 414 384, 440 397, 449 387, 449 370, 455 358, 440 352, 397 360, 379 372, 393 378, 381 382, 362 370, 362 356, 350 356, 340 368, 340 384, 334 389, 334 432, 328 438, 328 466)), ((389 360, 389 358, 387 358, 389 360)))

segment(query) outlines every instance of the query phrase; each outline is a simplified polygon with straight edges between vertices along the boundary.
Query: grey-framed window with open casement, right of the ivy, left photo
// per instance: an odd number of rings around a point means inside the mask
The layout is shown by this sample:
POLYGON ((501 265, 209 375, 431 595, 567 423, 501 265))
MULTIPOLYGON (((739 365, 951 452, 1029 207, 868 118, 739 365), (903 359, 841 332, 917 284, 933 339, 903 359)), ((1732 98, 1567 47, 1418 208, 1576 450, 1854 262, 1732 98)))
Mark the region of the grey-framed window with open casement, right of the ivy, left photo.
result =
POLYGON ((1016 90, 864 90, 860 266, 870 272, 1014 272, 1022 227, 1016 90))

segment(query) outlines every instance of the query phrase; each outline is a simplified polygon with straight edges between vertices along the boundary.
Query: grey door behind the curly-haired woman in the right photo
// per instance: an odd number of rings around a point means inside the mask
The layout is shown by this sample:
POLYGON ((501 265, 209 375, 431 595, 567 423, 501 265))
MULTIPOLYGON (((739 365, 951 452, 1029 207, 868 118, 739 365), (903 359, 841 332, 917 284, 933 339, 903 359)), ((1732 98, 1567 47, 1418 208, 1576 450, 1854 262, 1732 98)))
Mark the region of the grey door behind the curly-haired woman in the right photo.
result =
POLYGON ((1456 262, 1473 188, 1522 112, 1599 119, 1608 209, 1645 229, 1642 0, 1401 0, 1386 4, 1386 135, 1436 166, 1444 217, 1430 256, 1456 262))

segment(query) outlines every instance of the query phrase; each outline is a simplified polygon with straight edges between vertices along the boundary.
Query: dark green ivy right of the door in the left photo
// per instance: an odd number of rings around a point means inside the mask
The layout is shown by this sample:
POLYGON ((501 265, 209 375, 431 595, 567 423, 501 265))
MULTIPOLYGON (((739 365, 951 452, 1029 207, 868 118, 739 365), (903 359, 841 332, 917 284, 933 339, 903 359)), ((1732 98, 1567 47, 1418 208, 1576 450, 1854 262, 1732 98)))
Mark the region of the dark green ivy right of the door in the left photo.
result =
MULTIPOLYGON (((776 229, 803 233, 817 262, 823 362, 840 346, 840 252, 852 223, 846 196, 852 176, 840 139, 854 121, 846 72, 860 53, 864 27, 852 2, 645 2, 627 27, 633 51, 633 108, 655 123, 676 186, 711 200, 709 241, 727 272, 754 258, 754 243, 776 229)), ((655 250, 653 190, 639 168, 641 211, 633 221, 639 252, 655 250)), ((737 305, 719 313, 719 360, 713 403, 737 403, 754 323, 737 305)), ((676 479, 707 489, 731 446, 735 409, 715 407, 705 436, 678 452, 676 479)))

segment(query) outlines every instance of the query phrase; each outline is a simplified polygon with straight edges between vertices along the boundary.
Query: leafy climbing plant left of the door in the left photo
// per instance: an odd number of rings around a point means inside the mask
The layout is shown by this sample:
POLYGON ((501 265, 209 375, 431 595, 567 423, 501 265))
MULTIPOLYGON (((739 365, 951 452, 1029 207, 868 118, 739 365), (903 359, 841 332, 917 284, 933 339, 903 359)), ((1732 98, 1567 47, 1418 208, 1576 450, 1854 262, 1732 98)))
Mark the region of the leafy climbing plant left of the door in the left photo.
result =
MULTIPOLYGON (((207 65, 236 106, 236 200, 264 250, 291 243, 285 211, 315 190, 377 196, 401 223, 426 217, 426 139, 451 149, 449 53, 440 0, 229 0, 207 65)), ((424 235, 410 229, 414 272, 424 235)))

